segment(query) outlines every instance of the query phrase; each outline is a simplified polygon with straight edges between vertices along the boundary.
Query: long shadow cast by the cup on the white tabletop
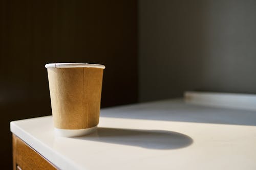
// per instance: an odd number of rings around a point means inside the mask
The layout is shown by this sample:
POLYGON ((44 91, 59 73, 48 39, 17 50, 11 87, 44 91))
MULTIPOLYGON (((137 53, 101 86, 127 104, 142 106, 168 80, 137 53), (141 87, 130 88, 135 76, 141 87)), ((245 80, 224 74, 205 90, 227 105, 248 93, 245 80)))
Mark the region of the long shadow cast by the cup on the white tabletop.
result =
POLYGON ((80 140, 133 145, 156 150, 179 149, 193 143, 192 138, 178 132, 116 128, 98 128, 98 130, 91 135, 75 138, 80 140))

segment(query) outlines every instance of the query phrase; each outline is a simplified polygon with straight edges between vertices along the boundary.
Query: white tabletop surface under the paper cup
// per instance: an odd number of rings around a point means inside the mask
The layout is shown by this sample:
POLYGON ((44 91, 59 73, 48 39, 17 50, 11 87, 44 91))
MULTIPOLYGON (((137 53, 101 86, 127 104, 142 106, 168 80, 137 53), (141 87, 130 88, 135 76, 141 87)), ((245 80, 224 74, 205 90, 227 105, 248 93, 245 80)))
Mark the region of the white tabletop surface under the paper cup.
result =
POLYGON ((165 100, 102 109, 88 136, 55 136, 52 116, 11 131, 60 169, 256 169, 255 111, 165 100))

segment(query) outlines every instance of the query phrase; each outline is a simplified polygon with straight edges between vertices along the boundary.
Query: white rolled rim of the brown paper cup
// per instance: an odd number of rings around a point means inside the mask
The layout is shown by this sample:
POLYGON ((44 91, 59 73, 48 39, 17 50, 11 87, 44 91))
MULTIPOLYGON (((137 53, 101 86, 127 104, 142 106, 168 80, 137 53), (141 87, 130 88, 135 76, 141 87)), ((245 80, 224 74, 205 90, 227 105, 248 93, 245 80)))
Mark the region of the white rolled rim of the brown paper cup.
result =
POLYGON ((78 67, 90 67, 90 68, 102 68, 105 66, 101 64, 89 64, 89 63, 49 63, 45 65, 46 68, 78 68, 78 67))

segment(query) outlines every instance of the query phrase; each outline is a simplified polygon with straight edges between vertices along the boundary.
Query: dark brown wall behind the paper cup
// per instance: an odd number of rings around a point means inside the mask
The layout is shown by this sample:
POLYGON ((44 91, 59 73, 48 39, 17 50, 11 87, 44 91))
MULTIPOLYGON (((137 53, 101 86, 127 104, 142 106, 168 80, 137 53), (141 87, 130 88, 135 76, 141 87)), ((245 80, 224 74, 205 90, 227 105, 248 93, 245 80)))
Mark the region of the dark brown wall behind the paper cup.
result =
POLYGON ((51 114, 46 63, 104 64, 102 107, 137 102, 136 1, 0 1, 2 167, 12 120, 51 114))

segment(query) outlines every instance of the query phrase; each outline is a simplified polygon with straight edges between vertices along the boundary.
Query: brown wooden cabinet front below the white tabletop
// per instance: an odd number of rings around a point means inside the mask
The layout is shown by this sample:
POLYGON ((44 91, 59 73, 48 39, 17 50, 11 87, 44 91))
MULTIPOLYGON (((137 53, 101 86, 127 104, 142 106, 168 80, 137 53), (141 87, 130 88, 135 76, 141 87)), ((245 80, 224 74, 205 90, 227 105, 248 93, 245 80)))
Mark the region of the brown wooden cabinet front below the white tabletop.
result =
POLYGON ((27 169, 58 169, 47 159, 42 157, 33 148, 31 148, 22 139, 16 135, 12 135, 13 145, 13 169, 27 170, 27 169))

